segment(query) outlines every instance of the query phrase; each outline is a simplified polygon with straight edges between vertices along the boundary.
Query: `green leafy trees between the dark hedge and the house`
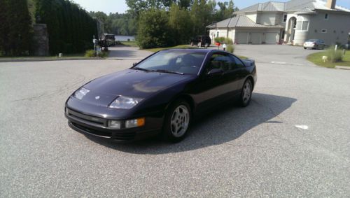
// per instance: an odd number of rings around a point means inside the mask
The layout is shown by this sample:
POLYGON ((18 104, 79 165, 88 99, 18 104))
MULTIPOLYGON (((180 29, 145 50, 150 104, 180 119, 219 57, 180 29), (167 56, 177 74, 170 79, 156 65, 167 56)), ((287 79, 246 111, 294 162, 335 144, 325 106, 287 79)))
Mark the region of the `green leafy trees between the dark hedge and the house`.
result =
POLYGON ((206 26, 232 17, 238 10, 230 0, 126 0, 125 14, 90 12, 104 24, 104 33, 137 35, 141 48, 188 43, 207 34, 206 26))

